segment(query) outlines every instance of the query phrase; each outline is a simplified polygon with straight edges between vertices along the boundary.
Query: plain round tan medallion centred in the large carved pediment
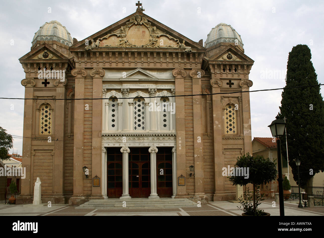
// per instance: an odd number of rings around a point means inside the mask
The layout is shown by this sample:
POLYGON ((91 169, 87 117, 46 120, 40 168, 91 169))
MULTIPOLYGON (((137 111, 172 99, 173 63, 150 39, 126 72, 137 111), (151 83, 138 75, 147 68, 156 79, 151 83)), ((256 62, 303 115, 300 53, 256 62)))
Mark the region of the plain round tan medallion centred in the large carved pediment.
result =
POLYGON ((150 31, 145 25, 133 25, 127 31, 127 40, 136 46, 146 45, 150 40, 150 31))

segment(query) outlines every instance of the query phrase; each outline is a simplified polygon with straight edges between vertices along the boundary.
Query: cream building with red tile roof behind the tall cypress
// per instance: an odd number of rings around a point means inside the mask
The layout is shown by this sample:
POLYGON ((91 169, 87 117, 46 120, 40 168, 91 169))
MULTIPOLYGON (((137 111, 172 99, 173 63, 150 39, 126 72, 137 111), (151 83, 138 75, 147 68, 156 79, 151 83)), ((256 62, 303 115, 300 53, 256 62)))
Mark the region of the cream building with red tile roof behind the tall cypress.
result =
MULTIPOLYGON (((273 138, 269 137, 254 137, 252 141, 253 155, 261 155, 264 158, 270 158, 272 161, 277 162, 278 171, 278 156, 277 156, 277 142, 273 138)), ((283 176, 288 178, 289 169, 289 182, 291 186, 298 186, 293 179, 291 167, 288 165, 287 160, 282 157, 282 173, 283 176)), ((324 173, 320 172, 313 177, 313 186, 324 186, 324 173)))

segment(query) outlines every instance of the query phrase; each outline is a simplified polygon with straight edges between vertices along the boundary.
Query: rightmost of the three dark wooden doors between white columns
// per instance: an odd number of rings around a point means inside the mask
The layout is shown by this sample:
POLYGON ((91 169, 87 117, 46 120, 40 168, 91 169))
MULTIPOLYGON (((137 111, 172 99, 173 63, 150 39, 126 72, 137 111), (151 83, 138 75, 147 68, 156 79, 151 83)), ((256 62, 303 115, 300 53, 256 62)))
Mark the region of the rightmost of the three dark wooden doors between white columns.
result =
POLYGON ((156 154, 157 195, 170 198, 172 188, 172 148, 159 147, 156 154))

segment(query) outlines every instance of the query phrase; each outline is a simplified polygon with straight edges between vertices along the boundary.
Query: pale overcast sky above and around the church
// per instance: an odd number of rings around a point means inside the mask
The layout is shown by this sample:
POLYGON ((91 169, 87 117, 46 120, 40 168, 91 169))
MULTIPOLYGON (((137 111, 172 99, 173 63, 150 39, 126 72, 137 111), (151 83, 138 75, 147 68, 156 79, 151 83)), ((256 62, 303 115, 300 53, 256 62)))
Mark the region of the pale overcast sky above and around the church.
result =
MULTIPOLYGON (((0 10, 1 97, 24 97, 25 74, 18 59, 28 53, 35 32, 57 20, 78 40, 135 12, 137 1, 3 1, 0 10), (12 45, 13 42, 13 45, 12 45)), ((241 35, 245 54, 253 59, 250 90, 282 88, 288 53, 297 44, 311 49, 312 62, 323 80, 323 1, 196 1, 143 0, 145 14, 194 41, 205 42, 218 23, 230 24, 241 35), (321 56, 322 55, 322 56, 321 56), (322 60, 321 60, 322 59, 322 60), (270 72, 275 77, 264 74, 270 72)), ((321 92, 323 93, 323 88, 321 92)), ((279 111, 281 90, 250 94, 253 137, 271 137, 267 127, 279 111)), ((23 100, 0 99, 0 126, 23 134, 23 100)), ((14 152, 22 153, 15 139, 14 152)), ((12 150, 10 150, 12 152, 12 150)))

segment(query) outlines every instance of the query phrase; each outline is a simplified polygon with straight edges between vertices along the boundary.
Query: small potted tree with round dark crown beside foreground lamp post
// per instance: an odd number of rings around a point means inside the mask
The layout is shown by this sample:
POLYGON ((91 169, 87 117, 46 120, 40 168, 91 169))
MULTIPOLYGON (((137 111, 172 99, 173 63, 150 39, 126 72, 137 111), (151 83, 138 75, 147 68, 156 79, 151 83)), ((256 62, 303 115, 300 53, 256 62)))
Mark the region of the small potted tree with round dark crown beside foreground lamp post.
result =
POLYGON ((270 216, 269 213, 264 212, 263 210, 257 209, 262 199, 261 195, 257 195, 257 188, 260 184, 267 184, 272 180, 277 178, 277 169, 276 163, 272 162, 269 158, 265 159, 263 156, 256 155, 251 156, 249 153, 246 155, 237 157, 237 162, 235 167, 243 168, 248 172, 248 176, 245 175, 234 175, 229 176, 229 180, 233 185, 244 186, 249 183, 253 185, 253 194, 250 195, 249 190, 247 191, 246 199, 241 196, 239 202, 243 206, 243 216, 270 216), (252 206, 252 197, 253 197, 253 209, 252 206), (248 205, 247 205, 248 204, 248 205))

